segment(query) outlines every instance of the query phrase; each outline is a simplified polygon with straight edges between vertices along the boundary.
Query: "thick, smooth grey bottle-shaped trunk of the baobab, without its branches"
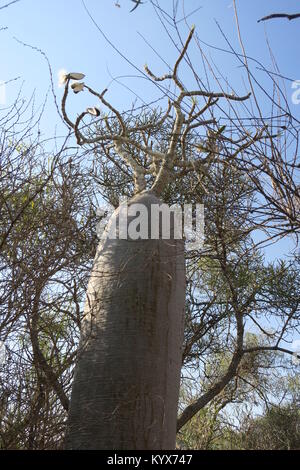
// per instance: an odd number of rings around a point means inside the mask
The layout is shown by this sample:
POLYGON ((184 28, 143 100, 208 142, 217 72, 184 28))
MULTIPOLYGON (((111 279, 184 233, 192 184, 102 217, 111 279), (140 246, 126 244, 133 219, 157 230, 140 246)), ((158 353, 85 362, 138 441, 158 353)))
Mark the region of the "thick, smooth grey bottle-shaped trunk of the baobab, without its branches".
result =
MULTIPOLYGON (((131 203, 150 208, 161 201, 144 193, 131 203)), ((182 240, 106 238, 99 245, 87 292, 67 449, 175 447, 184 302, 182 240)))

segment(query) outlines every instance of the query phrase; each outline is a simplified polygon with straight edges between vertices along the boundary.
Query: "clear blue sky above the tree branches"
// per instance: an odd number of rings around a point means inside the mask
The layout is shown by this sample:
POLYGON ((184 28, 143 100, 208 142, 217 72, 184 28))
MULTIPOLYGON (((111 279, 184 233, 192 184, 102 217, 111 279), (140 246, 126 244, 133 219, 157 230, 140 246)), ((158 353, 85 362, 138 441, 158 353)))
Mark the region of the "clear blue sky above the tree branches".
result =
MULTIPOLYGON (((5 3, 7 0, 0 1, 0 7, 5 3)), ((177 51, 160 24, 150 2, 144 0, 144 4, 133 13, 129 12, 133 6, 130 0, 119 0, 120 8, 115 3, 116 0, 85 0, 94 20, 121 54, 140 70, 147 63, 157 74, 167 72, 166 65, 141 37, 142 34, 166 62, 170 65, 174 64, 177 51)), ((172 3, 172 0, 159 2, 169 12, 172 10, 172 3)), ((247 54, 272 69, 266 44, 267 35, 281 73, 292 79, 300 79, 298 46, 300 44, 300 20, 289 22, 282 19, 257 23, 257 19, 270 13, 298 12, 299 1, 253 0, 246 2, 237 0, 236 3, 247 54)), ((184 5, 187 14, 201 6, 199 11, 188 18, 188 23, 196 25, 196 32, 202 41, 228 49, 216 25, 217 21, 233 47, 240 52, 231 0, 185 0, 184 5)), ((183 17, 183 12, 179 10, 178 18, 181 17, 183 17)), ((180 22, 179 26, 183 36, 186 37, 188 28, 184 21, 180 22)), ((107 43, 92 23, 81 0, 20 0, 9 8, 0 10, 0 27, 7 28, 0 31, 0 81, 20 77, 17 82, 6 86, 7 104, 13 102, 22 83, 22 95, 29 98, 35 91, 37 104, 41 104, 50 85, 48 66, 42 55, 31 48, 24 47, 17 40, 38 47, 45 52, 53 71, 58 100, 62 96, 62 89, 56 86, 57 72, 62 68, 68 71, 84 72, 87 76, 86 82, 99 91, 108 86, 109 91, 106 96, 120 110, 129 108, 135 98, 134 93, 129 89, 134 90, 147 102, 159 97, 157 88, 146 80, 137 78, 136 75, 139 72, 107 43), (120 76, 123 78, 119 81, 129 89, 116 80, 112 81, 112 77, 120 76)), ((177 39, 176 42, 178 42, 177 39)), ((244 73, 230 54, 216 51, 205 45, 203 47, 208 55, 211 54, 212 59, 228 77, 237 92, 248 91, 247 86, 245 87, 242 82, 244 73)), ((199 53, 193 47, 190 53, 199 75, 204 75, 199 53)), ((181 76, 187 83, 191 80, 190 72, 184 67, 181 76)), ((259 70, 257 70, 257 77, 271 91, 270 82, 259 70)), ((291 103, 291 83, 286 81, 285 85, 292 112, 300 118, 300 105, 291 103)), ((90 96, 72 96, 69 109, 71 113, 76 114, 83 109, 83 106, 94 104, 90 96)), ((52 98, 49 96, 49 105, 46 108, 42 128, 45 134, 48 133, 51 136, 57 126, 59 130, 63 129, 52 104, 52 98)), ((285 240, 276 247, 270 248, 269 256, 276 257, 278 250, 283 252, 286 243, 290 244, 285 240)))

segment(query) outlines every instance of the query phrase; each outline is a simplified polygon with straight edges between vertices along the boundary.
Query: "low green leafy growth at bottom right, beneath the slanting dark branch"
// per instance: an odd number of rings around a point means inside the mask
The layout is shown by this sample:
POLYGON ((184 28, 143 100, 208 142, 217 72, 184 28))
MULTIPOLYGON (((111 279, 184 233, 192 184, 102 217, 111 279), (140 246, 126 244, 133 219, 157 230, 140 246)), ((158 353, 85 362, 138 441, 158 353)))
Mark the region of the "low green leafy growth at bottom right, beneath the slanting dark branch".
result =
MULTIPOLYGON (((245 371, 244 371, 245 372, 245 371)), ((298 377, 297 377, 298 379, 298 377)), ((178 446, 181 449, 231 449, 231 450, 295 450, 299 449, 299 402, 287 399, 290 385, 283 377, 279 382, 273 378, 265 380, 259 369, 248 369, 245 374, 239 374, 235 388, 224 390, 205 409, 201 410, 187 426, 178 434, 178 446), (264 409, 257 408, 257 398, 249 407, 249 389, 245 387, 244 379, 251 380, 252 373, 259 376, 264 388, 281 388, 284 400, 275 403, 266 401, 264 409), (240 380, 243 379, 243 380, 240 380), (282 385, 282 382, 285 382, 282 385), (231 394, 231 396, 230 396, 231 394), (232 395, 233 394, 233 395, 232 395), (240 409, 243 394, 248 394, 248 407, 240 409), (226 403, 230 402, 230 410, 225 411, 226 403), (254 410, 256 407, 256 411, 254 410), (234 417, 230 419, 230 416, 234 417)), ((296 381, 299 395, 299 380, 296 381)), ((261 390, 263 387, 261 387, 261 390)), ((189 397, 186 390, 182 399, 189 397)))

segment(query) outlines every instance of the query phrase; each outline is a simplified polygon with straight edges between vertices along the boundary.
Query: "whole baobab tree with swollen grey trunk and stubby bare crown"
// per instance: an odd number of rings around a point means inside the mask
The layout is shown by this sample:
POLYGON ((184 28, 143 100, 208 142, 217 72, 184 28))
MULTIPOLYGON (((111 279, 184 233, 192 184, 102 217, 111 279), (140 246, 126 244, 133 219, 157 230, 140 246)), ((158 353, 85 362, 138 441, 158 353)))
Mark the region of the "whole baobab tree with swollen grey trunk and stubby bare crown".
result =
MULTIPOLYGON (((219 99, 243 102, 250 96, 248 94, 238 97, 232 93, 204 90, 188 91, 184 87, 178 78, 178 68, 185 57, 193 34, 194 28, 191 29, 171 74, 157 77, 148 66, 145 66, 146 73, 154 82, 172 80, 178 89, 178 96, 169 100, 166 113, 156 116, 154 122, 150 124, 138 123, 134 127, 129 127, 120 112, 104 98, 107 90, 98 93, 83 82, 77 82, 72 85, 73 91, 77 93, 87 90, 108 108, 112 117, 112 123, 108 117, 103 117, 95 136, 91 136, 89 131, 83 134, 86 129, 83 120, 91 113, 87 109, 79 114, 76 122, 70 120, 66 112, 66 101, 70 81, 76 79, 77 74, 68 74, 65 77, 66 85, 62 100, 65 121, 74 130, 79 145, 100 143, 106 152, 110 152, 112 161, 116 162, 118 155, 130 168, 135 196, 129 204, 142 204, 147 209, 154 204, 161 204, 162 200, 158 198, 164 194, 176 177, 176 167, 182 168, 183 171, 189 168, 195 169, 197 165, 203 167, 205 159, 194 160, 191 154, 189 158, 187 157, 187 145, 191 142, 192 131, 200 126, 217 124, 214 117, 203 119, 202 116, 206 111, 211 112, 219 99), (196 97, 205 100, 200 111, 196 111, 196 97), (185 100, 192 102, 187 114, 184 112, 185 100), (172 119, 172 111, 174 111, 174 120, 167 150, 164 152, 161 148, 154 149, 152 142, 151 146, 149 145, 149 140, 155 136, 155 129, 161 127, 167 118, 172 119), (143 158, 140 157, 141 154, 143 158)), ((222 138, 223 131, 224 127, 210 132, 206 147, 201 147, 202 151, 208 153, 206 161, 213 161, 216 158, 219 152, 218 140, 222 138)), ((261 129, 255 136, 248 139, 244 137, 243 144, 237 145, 235 155, 264 138, 263 132, 264 129, 261 129)), ((117 210, 113 216, 113 225, 114 219, 117 224, 120 222, 121 210, 121 208, 117 210)), ((171 245, 170 240, 167 242, 168 246, 171 245)), ((170 448, 174 445, 184 301, 184 278, 181 274, 184 272, 184 262, 183 258, 180 258, 180 253, 183 255, 183 247, 180 245, 178 247, 178 243, 173 240, 172 245, 174 251, 165 251, 163 240, 160 240, 159 245, 156 242, 143 243, 140 240, 133 243, 133 239, 112 242, 108 236, 100 245, 87 293, 85 321, 69 413, 67 448, 170 448), (176 259, 177 262, 172 266, 169 266, 169 261, 160 265, 158 259, 155 259, 156 250, 164 253, 163 259, 176 259), (126 266, 126 269, 120 270, 120 266, 126 266), (167 268, 166 272, 163 267, 167 268), (163 282, 166 275, 170 279, 169 288, 163 282), (152 291, 151 295, 149 290, 152 291), (162 300, 166 290, 170 292, 167 304, 162 300), (177 295, 179 297, 176 297, 177 295), (142 306, 137 300, 141 298, 147 299, 142 306), (138 302, 138 307, 133 299, 138 302), (122 309, 120 304, 123 305, 122 309), (171 311, 172 318, 170 318, 171 311), (157 317, 159 317, 158 323, 157 317), (145 330, 145 320, 142 319, 146 318, 145 330), (149 331, 154 335, 151 340, 153 349, 147 338, 149 331), (166 356, 159 354, 159 351, 164 350, 165 343, 168 351, 166 356), (145 364, 150 363, 152 370, 147 368, 145 372, 145 364), (173 364, 174 368, 171 368, 166 379, 169 364, 173 364), (162 407, 156 404, 157 396, 163 403, 162 407), (153 412, 149 411, 152 408, 157 413, 155 418, 153 412), (149 418, 145 419, 145 416, 149 418), (146 429, 149 427, 152 432, 146 438, 146 429)), ((219 248, 216 246, 217 253, 219 248)), ((224 253, 218 253, 218 256, 220 256, 221 272, 228 279, 232 268, 225 250, 228 251, 227 246, 224 248, 224 253)), ((236 320, 237 340, 228 371, 211 390, 184 410, 177 429, 180 429, 233 379, 244 355, 244 310, 249 307, 255 294, 251 292, 241 304, 238 300, 239 295, 234 292, 230 281, 229 286, 232 291, 231 302, 236 320)))

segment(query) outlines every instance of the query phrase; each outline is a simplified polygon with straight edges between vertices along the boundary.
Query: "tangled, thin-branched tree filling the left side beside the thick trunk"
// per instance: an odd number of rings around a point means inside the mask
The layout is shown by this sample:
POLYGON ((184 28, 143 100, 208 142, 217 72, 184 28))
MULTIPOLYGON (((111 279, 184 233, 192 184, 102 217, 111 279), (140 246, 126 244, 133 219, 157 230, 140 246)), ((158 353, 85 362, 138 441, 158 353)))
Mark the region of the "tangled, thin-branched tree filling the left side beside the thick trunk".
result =
POLYGON ((40 113, 27 109, 18 100, 1 116, 1 449, 62 447, 96 239, 93 191, 76 151, 65 139, 46 143, 40 113))

